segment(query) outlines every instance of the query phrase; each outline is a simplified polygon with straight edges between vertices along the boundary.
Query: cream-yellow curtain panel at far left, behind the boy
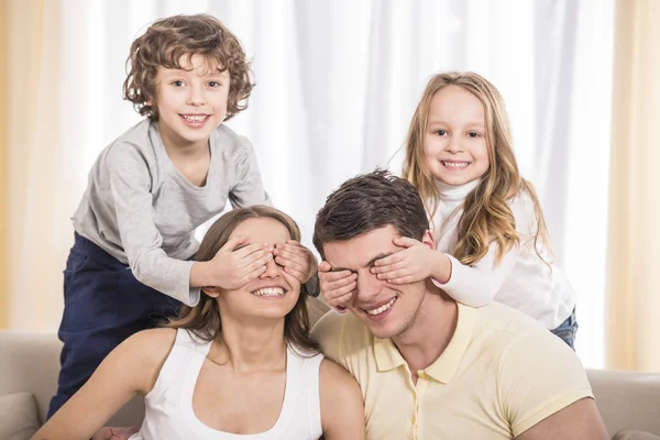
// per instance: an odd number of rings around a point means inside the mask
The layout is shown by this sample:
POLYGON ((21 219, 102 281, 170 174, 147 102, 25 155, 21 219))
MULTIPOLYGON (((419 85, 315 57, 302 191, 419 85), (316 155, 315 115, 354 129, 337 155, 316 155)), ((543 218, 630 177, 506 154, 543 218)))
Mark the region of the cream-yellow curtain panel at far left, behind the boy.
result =
POLYGON ((61 3, 10 0, 7 7, 8 326, 53 329, 65 255, 57 226, 67 223, 59 184, 72 172, 61 166, 58 143, 61 3))

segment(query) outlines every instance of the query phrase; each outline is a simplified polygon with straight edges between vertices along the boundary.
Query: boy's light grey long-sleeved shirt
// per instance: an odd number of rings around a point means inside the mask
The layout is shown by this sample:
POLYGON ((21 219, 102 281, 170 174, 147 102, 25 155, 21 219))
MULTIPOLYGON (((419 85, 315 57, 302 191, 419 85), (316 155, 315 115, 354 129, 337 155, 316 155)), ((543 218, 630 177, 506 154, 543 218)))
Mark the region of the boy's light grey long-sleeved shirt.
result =
POLYGON ((73 221, 75 230, 135 277, 184 304, 199 301, 190 268, 195 229, 232 207, 268 205, 250 141, 221 124, 210 136, 206 185, 193 185, 169 160, 156 123, 145 120, 99 155, 73 221))

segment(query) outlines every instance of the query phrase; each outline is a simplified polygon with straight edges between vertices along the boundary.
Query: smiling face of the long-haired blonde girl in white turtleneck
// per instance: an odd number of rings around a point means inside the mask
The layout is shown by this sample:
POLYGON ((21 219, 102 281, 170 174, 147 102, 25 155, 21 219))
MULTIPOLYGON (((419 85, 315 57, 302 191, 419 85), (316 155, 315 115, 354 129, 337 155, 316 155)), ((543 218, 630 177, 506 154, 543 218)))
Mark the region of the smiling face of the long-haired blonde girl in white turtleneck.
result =
POLYGON ((484 106, 470 91, 447 86, 429 106, 424 138, 425 163, 447 185, 481 178, 490 167, 484 106))

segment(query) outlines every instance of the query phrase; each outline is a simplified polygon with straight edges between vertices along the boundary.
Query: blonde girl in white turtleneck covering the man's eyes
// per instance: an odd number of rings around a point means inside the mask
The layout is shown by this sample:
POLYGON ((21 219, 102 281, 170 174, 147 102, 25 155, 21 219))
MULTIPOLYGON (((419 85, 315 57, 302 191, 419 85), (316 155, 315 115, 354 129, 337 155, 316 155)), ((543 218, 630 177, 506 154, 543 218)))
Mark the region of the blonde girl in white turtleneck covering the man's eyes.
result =
MULTIPOLYGON (((551 264, 548 231, 530 183, 518 170, 504 100, 474 73, 442 73, 428 82, 408 130, 403 175, 419 190, 436 251, 399 238, 402 249, 372 272, 393 285, 431 277, 457 301, 497 300, 543 323, 573 346, 575 292, 551 264)), ((336 309, 355 288, 346 271, 319 267, 336 309)))

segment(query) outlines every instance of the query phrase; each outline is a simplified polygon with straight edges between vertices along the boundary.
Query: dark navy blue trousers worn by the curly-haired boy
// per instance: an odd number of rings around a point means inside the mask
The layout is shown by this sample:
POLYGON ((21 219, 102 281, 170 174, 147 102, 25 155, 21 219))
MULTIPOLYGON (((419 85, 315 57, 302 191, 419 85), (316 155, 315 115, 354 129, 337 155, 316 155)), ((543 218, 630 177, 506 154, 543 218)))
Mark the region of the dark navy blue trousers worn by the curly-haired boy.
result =
POLYGON ((101 361, 131 334, 157 327, 180 302, 140 283, 130 267, 75 234, 64 271, 64 342, 57 394, 48 418, 91 376, 101 361))

